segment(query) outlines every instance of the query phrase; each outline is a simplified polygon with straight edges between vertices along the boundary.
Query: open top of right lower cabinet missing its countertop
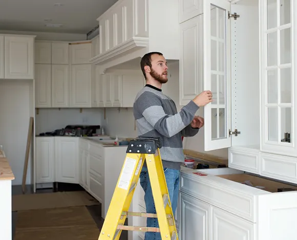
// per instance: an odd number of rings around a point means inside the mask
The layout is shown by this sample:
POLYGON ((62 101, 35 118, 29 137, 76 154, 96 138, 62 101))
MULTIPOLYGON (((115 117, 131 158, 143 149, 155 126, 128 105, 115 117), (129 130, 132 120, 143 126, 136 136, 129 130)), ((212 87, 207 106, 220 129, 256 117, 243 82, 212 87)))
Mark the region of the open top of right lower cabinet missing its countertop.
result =
POLYGON ((297 191, 297 186, 291 185, 291 184, 285 184, 285 183, 280 183, 277 181, 269 180, 269 179, 264 179, 261 177, 253 176, 250 174, 223 174, 223 175, 218 175, 220 178, 224 178, 230 181, 238 182, 238 183, 243 183, 245 181, 250 181, 250 183, 253 186, 260 186, 265 191, 269 192, 278 192, 278 188, 290 188, 294 189, 297 191), (264 188, 263 188, 264 187, 264 188))

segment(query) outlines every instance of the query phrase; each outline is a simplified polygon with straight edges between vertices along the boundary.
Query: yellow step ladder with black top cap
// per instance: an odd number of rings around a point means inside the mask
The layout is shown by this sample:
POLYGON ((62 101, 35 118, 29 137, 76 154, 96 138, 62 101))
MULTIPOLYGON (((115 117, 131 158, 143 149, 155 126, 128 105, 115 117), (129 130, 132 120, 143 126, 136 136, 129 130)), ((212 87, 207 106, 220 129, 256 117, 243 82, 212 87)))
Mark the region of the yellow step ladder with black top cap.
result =
POLYGON ((159 138, 141 137, 130 141, 98 240, 118 240, 122 230, 160 232, 162 240, 178 240, 159 148, 159 138), (144 160, 150 176, 157 214, 129 212, 144 160), (160 228, 124 226, 127 216, 155 217, 160 228))

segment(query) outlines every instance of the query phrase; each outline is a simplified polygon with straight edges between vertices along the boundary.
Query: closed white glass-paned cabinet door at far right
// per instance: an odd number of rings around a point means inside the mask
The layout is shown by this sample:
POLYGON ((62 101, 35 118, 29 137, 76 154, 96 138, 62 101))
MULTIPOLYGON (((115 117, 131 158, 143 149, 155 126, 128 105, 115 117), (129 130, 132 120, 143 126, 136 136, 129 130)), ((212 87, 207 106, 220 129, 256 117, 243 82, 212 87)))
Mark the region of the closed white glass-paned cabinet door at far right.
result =
POLYGON ((297 156, 293 2, 260 3, 261 150, 289 156, 297 156))

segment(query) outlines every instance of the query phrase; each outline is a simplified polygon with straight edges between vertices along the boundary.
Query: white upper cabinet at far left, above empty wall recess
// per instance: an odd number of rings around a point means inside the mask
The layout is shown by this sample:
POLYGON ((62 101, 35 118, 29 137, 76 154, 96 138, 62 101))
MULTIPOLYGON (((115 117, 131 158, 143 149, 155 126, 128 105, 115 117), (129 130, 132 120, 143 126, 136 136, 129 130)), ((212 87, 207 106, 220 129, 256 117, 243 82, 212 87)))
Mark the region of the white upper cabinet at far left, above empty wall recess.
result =
POLYGON ((34 38, 0 35, 0 78, 34 78, 34 38))

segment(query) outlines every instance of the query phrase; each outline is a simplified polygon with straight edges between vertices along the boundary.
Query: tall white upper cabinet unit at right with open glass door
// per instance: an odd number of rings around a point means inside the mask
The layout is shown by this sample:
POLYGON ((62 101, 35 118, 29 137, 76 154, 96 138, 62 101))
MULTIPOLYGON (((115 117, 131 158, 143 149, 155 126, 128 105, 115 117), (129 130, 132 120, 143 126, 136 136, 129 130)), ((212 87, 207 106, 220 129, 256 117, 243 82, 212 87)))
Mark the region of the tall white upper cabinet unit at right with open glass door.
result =
POLYGON ((297 183, 297 4, 180 0, 180 104, 204 90, 206 151, 229 167, 297 183))

